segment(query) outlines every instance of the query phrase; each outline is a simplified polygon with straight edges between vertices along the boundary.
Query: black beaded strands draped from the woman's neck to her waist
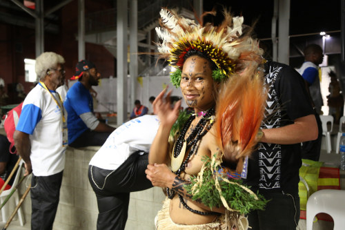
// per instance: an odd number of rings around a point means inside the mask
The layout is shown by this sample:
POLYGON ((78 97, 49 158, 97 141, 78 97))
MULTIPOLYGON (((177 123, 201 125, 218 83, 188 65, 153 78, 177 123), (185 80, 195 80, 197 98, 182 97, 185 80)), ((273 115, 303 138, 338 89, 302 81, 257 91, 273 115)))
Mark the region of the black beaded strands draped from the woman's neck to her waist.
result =
MULTIPOLYGON (((184 171, 184 169, 186 169, 186 164, 187 164, 188 160, 190 159, 190 157, 194 153, 197 152, 197 148, 199 147, 199 145, 198 145, 199 140, 201 140, 201 138, 204 137, 204 135, 206 135, 206 133, 213 126, 213 122, 208 122, 210 117, 213 115, 215 115, 215 107, 210 108, 208 111, 204 112, 202 114, 201 119, 197 123, 197 126, 195 126, 192 133, 190 133, 190 135, 188 135, 186 140, 184 140, 184 137, 188 131, 190 124, 192 124, 193 120, 195 119, 196 115, 191 115, 188 118, 188 120, 186 121, 186 123, 184 124, 184 127, 182 128, 181 133, 179 134, 179 137, 177 137, 177 140, 175 142, 175 146, 174 146, 173 151, 172 151, 172 156, 171 156, 172 162, 174 161, 174 158, 178 159, 177 160, 178 161, 177 164, 179 164, 178 169, 176 168, 177 170, 172 170, 176 175, 179 176, 181 174, 181 172, 184 171), (208 126, 206 126, 207 123, 208 123, 208 126), (205 130, 204 130, 204 128, 205 128, 205 130), (186 157, 186 160, 183 161, 184 155, 185 155, 186 151, 188 151, 188 149, 190 149, 190 151, 186 157), (179 161, 181 161, 181 159, 183 162, 179 163, 179 161)), ((168 195, 169 199, 172 199, 175 196, 175 191, 170 190, 169 188, 166 188, 166 194, 168 195)), ((215 213, 213 211, 210 211, 210 212, 197 211, 195 209, 188 207, 188 204, 186 204, 186 202, 184 202, 184 199, 181 195, 179 195, 179 200, 180 200, 181 204, 183 204, 186 209, 188 209, 189 211, 191 211, 193 213, 197 213, 199 215, 217 215, 218 214, 218 213, 215 213)))

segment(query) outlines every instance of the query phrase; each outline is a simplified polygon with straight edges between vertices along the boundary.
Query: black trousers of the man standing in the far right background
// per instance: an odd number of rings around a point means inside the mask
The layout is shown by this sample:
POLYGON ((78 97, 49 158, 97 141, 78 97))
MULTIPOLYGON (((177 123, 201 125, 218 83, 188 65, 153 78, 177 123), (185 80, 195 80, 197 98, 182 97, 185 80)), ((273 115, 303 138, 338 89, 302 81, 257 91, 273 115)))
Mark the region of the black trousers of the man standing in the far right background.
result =
POLYGON ((301 154, 303 159, 319 161, 320 151, 321 151, 321 142, 322 142, 322 122, 319 117, 319 114, 315 112, 315 119, 317 122, 317 129, 319 135, 317 135, 317 140, 312 140, 309 142, 302 142, 301 154))

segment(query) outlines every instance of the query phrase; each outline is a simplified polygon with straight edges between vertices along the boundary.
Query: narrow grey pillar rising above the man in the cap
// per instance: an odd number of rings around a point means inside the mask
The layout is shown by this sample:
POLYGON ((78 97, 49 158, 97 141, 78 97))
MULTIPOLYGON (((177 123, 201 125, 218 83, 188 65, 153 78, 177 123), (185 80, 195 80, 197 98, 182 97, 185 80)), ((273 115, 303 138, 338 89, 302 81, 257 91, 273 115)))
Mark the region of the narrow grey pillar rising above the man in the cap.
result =
POLYGON ((85 59, 85 0, 78 0, 78 61, 85 59))

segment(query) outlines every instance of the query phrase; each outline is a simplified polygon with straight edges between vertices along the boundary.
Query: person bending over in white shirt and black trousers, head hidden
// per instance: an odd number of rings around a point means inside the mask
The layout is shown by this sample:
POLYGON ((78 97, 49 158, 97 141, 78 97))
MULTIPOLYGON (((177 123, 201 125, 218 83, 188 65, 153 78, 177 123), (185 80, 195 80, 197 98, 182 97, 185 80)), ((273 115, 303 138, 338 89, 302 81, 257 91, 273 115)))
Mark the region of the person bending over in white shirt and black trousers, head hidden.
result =
POLYGON ((125 229, 130 192, 149 189, 148 151, 159 120, 144 115, 119 126, 92 157, 88 178, 97 196, 97 229, 125 229))

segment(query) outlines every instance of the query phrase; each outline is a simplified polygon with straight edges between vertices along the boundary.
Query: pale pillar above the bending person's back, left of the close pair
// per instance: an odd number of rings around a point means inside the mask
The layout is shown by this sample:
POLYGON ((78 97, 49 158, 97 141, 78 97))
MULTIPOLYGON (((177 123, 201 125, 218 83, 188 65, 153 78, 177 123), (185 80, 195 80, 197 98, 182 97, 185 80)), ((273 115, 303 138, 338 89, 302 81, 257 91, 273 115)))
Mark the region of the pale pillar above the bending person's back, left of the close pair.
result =
POLYGON ((117 1, 117 125, 127 119, 127 0, 117 1))

